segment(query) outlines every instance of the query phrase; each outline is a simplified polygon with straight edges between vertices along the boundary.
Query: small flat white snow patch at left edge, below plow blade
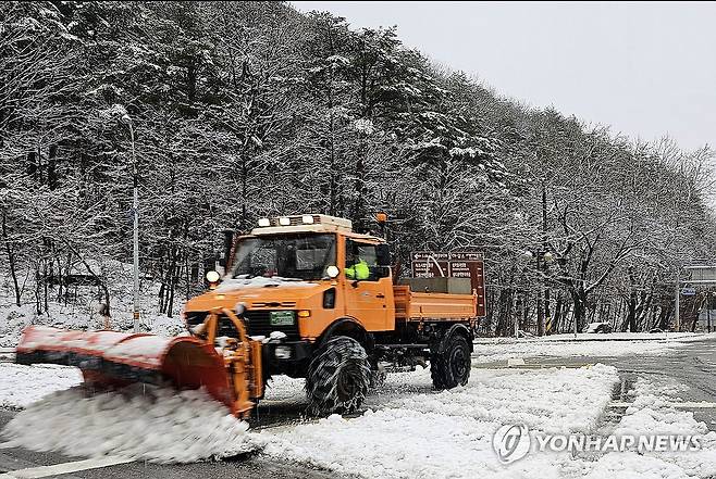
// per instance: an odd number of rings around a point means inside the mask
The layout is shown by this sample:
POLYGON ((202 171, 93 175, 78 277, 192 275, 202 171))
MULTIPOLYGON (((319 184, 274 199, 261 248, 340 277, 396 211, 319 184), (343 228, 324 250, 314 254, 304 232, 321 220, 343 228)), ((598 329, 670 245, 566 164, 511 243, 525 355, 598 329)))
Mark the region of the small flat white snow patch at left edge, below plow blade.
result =
POLYGON ((82 381, 82 373, 75 367, 0 363, 0 407, 22 408, 82 381))

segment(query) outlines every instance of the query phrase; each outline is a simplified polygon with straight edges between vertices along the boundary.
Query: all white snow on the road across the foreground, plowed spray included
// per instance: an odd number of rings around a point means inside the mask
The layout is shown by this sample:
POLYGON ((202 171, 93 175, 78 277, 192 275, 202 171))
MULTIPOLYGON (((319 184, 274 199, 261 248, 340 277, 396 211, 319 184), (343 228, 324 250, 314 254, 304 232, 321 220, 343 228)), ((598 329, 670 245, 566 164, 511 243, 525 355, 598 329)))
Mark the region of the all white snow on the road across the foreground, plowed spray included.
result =
MULTIPOLYGON (((12 377, 13 389, 26 385, 26 403, 33 391, 36 396, 47 393, 39 385, 49 387, 49 377, 66 377, 72 370, 0 364, 0 382, 10 385, 7 378, 12 377)), ((74 379, 66 377, 66 382, 53 387, 76 383, 79 377, 75 374, 74 379)), ((258 432, 247 431, 246 424, 227 416, 200 392, 147 388, 133 395, 89 398, 81 388, 73 388, 30 405, 3 434, 14 444, 35 450, 169 463, 261 451, 268 458, 366 478, 716 477, 716 433, 708 432, 692 413, 671 407, 670 401, 678 401, 681 392, 678 383, 638 381, 629 398, 631 407, 614 424, 603 417, 618 381, 616 369, 603 365, 473 369, 468 386, 435 392, 429 370, 418 369, 388 375, 359 417, 334 415, 258 432), (699 434, 703 450, 610 452, 596 457, 531 452, 503 465, 493 452, 492 436, 502 425, 513 424, 545 433, 699 434)), ((270 385, 267 403, 297 404, 298 418, 303 386, 301 380, 279 377, 270 385)))

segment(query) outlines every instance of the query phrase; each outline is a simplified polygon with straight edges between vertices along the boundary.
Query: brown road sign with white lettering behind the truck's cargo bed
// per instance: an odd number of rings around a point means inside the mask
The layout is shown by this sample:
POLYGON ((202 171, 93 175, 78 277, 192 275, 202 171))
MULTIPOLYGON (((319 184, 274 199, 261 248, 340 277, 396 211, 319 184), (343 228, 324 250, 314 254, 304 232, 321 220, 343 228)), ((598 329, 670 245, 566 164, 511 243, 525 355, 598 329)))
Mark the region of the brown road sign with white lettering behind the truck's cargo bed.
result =
POLYGON ((410 253, 413 278, 470 278, 478 293, 478 316, 486 315, 484 254, 481 251, 413 251, 410 253))

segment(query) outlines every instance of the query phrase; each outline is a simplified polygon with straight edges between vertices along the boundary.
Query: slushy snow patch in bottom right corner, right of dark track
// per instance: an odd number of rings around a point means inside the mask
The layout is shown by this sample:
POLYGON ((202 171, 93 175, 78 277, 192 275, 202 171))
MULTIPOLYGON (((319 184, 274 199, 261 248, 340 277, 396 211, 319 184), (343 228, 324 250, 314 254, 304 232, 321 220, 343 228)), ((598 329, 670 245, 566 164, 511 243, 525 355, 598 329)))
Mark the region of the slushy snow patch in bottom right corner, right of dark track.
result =
POLYGON ((716 432, 694 419, 690 411, 678 411, 682 387, 640 379, 635 399, 613 431, 615 434, 681 434, 700 437, 700 451, 608 453, 596 463, 591 478, 713 478, 716 477, 716 432), (630 472, 630 474, 629 474, 630 472))

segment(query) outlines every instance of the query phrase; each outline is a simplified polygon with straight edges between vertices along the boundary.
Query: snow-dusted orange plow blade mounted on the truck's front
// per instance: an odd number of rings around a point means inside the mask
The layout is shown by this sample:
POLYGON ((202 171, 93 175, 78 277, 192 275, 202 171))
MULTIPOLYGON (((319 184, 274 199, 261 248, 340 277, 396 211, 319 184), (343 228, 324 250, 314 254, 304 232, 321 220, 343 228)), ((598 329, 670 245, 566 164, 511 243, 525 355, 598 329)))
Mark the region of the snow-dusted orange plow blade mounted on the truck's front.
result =
POLYGON ((132 382, 177 389, 206 388, 237 416, 250 411, 244 383, 233 385, 224 358, 212 345, 194 338, 163 338, 114 331, 67 331, 30 326, 17 344, 18 364, 51 363, 76 366, 86 383, 122 387, 132 382), (244 401, 239 401, 244 396, 244 401))

